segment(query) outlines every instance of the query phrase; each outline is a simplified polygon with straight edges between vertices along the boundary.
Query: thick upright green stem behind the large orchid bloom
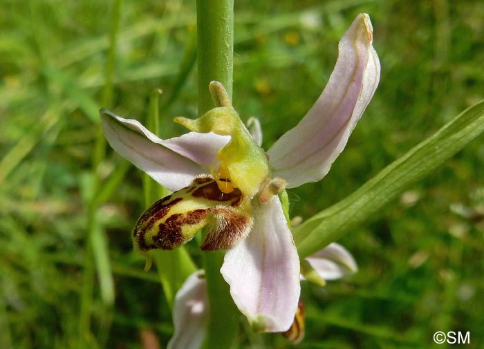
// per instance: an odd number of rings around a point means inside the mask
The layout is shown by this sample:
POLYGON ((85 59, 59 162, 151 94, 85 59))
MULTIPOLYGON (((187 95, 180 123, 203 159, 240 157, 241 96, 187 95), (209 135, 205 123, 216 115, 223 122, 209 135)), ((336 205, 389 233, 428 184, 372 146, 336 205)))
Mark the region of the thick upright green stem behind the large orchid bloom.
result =
MULTIPOLYGON (((232 97, 234 2, 197 0, 198 33, 198 115, 214 108, 209 91, 212 80, 221 82, 232 97)), ((239 311, 230 297, 229 287, 220 274, 223 252, 203 254, 210 320, 205 348, 227 349, 239 328, 239 311)))

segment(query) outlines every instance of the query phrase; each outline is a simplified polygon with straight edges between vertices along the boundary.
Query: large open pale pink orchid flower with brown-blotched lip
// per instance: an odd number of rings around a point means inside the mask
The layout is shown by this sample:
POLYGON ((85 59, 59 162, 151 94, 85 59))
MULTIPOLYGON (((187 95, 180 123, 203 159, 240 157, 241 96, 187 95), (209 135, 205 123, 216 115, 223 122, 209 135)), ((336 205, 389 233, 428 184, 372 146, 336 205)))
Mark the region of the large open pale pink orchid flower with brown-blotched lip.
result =
POLYGON ((153 203, 133 230, 137 249, 172 249, 206 227, 201 249, 227 249, 221 274, 252 328, 290 328, 299 301, 299 257, 278 194, 321 180, 344 149, 380 77, 371 21, 358 15, 339 42, 333 73, 314 106, 268 151, 241 122, 220 83, 216 108, 192 132, 162 140, 136 120, 102 109, 111 147, 173 194, 153 203))

